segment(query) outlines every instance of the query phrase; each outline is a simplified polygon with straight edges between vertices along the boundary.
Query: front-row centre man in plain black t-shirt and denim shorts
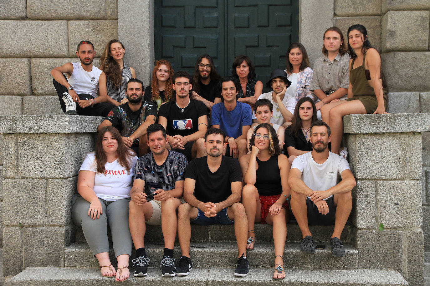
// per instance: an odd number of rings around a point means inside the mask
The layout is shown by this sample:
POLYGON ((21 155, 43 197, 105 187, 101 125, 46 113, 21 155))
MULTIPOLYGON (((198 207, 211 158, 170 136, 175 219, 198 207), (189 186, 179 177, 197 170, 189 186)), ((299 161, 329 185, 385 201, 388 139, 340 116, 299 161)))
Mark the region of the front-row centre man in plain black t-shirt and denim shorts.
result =
POLYGON ((242 175, 239 162, 222 156, 227 143, 221 129, 210 128, 205 134, 208 156, 197 158, 187 166, 184 181, 185 203, 178 208, 178 238, 182 256, 176 265, 176 275, 188 275, 193 262, 190 259, 190 222, 200 225, 233 224, 239 259, 234 275, 248 275, 246 235, 248 220, 245 208, 239 202, 242 175))

